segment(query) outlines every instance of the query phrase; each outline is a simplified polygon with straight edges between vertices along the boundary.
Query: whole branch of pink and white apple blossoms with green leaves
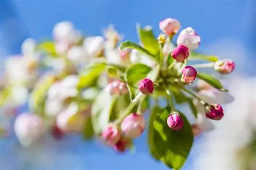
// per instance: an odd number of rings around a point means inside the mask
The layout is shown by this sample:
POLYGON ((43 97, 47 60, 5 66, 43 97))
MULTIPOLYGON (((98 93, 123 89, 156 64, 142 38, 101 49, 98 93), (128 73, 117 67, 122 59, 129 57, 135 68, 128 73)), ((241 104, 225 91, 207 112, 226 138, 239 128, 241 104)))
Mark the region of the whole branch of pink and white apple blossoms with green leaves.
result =
POLYGON ((124 153, 148 127, 154 158, 181 168, 193 136, 212 130, 209 120, 224 116, 221 102, 212 99, 228 94, 216 77, 198 68, 226 75, 235 64, 196 53, 201 37, 191 27, 180 31, 177 19, 160 21, 159 28, 162 33, 155 37, 150 26, 138 25, 140 43, 119 44, 123 36, 112 25, 103 36, 84 37, 73 23, 63 21, 53 28, 53 41, 26 40, 23 57, 8 60, 1 84, 1 107, 29 104, 30 113, 18 115, 15 121, 20 143, 29 146, 46 133, 55 139, 78 133, 84 139, 101 136, 113 150, 124 153), (172 40, 178 33, 175 44, 172 40), (190 60, 207 63, 191 65, 190 60), (197 80, 198 85, 192 86, 197 80), (12 102, 15 96, 25 100, 12 102), (159 105, 163 101, 165 107, 159 105), (178 110, 180 104, 191 108, 195 124, 178 110))

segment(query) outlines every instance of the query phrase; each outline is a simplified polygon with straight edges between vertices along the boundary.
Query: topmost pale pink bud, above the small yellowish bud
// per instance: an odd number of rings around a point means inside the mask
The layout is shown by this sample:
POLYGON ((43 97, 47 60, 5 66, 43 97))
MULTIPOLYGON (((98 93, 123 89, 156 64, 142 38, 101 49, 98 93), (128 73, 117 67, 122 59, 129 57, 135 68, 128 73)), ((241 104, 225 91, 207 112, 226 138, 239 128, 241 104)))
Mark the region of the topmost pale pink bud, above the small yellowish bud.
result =
POLYGON ((166 35, 176 34, 180 27, 180 22, 173 18, 167 18, 159 22, 160 30, 166 35))

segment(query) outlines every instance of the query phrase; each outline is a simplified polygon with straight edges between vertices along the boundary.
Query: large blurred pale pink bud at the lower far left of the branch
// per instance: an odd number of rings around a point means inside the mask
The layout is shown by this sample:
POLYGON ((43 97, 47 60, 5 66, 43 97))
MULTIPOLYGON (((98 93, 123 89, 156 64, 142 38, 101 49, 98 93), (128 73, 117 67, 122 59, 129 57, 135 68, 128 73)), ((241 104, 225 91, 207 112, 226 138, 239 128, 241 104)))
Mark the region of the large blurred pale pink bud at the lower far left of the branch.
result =
POLYGON ((20 114, 14 123, 14 132, 22 145, 30 146, 44 133, 44 123, 36 114, 20 114))

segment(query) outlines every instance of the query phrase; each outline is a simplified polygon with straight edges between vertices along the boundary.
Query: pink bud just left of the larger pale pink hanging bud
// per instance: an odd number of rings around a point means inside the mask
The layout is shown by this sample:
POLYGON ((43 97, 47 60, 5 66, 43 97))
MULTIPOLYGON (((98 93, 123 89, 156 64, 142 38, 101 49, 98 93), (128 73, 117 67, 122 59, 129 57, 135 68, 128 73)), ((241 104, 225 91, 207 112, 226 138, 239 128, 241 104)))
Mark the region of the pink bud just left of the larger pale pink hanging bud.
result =
POLYGON ((109 145, 115 145, 121 138, 121 132, 117 127, 109 126, 102 132, 101 136, 109 145))

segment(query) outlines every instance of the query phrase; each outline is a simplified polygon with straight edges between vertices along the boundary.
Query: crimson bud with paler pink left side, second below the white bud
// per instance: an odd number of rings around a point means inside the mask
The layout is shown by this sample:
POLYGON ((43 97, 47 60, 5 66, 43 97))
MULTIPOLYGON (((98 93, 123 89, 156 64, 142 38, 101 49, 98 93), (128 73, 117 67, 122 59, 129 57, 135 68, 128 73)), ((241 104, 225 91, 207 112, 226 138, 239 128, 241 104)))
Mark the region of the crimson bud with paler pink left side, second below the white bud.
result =
POLYGON ((192 83, 197 77, 197 70, 191 66, 185 66, 181 72, 181 81, 187 84, 192 83))

